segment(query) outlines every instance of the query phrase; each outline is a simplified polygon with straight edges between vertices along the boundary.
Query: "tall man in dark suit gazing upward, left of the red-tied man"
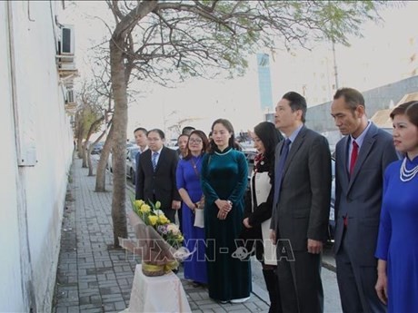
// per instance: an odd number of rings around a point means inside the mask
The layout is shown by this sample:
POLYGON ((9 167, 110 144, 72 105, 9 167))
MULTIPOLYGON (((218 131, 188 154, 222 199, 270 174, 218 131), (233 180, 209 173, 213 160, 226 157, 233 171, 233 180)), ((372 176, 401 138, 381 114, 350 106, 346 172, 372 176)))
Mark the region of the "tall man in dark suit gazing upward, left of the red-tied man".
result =
POLYGON ((321 252, 331 201, 329 145, 304 126, 305 113, 304 97, 290 92, 274 116, 286 140, 275 151, 271 240, 277 243, 282 308, 292 313, 323 312, 321 252))

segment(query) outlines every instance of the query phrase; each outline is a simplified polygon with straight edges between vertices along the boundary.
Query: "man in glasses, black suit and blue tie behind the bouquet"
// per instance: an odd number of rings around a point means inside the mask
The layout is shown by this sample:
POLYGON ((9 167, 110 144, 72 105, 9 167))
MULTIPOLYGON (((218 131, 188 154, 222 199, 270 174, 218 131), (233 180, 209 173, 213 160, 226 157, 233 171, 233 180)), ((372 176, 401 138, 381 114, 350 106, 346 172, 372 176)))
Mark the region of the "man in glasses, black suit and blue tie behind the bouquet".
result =
POLYGON ((147 138, 149 149, 139 156, 135 199, 160 201, 165 216, 174 222, 181 201, 175 183, 177 153, 164 147, 163 131, 151 130, 147 138))

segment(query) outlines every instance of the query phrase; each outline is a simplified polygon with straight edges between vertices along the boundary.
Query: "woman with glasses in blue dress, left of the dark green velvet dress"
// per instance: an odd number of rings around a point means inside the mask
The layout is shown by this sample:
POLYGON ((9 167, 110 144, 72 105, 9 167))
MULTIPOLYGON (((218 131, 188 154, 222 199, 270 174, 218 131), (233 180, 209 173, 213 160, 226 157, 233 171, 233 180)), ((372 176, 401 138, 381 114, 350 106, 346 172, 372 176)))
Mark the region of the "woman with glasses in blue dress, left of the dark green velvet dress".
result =
POLYGON ((178 162, 176 173, 177 189, 183 200, 184 245, 190 251, 194 251, 192 256, 184 260, 184 278, 193 280, 195 285, 207 283, 204 229, 194 227, 194 210, 202 198, 200 172, 202 158, 208 145, 204 132, 192 132, 187 142, 187 154, 178 162))

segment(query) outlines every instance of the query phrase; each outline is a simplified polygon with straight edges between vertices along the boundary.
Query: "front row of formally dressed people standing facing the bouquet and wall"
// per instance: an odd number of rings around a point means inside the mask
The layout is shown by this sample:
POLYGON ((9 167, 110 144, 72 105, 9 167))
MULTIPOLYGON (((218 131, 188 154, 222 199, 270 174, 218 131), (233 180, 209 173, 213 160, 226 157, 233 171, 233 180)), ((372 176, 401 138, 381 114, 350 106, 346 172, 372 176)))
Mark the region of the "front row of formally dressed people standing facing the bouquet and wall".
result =
MULTIPOLYGON (((254 252, 269 312, 323 312, 332 158, 326 138, 304 125, 306 111, 302 95, 285 93, 274 124, 254 127, 249 183, 225 119, 214 121, 210 139, 198 130, 182 134, 180 161, 164 147, 164 132, 146 132, 136 199, 161 201, 170 220, 181 208, 185 244, 194 251, 184 277, 207 284, 211 298, 250 297, 254 252), (194 217, 203 201, 201 228, 194 217)), ((393 109, 393 136, 367 119, 363 95, 352 88, 335 93, 331 115, 344 135, 335 150, 334 243, 343 311, 418 311, 418 102, 393 109)))

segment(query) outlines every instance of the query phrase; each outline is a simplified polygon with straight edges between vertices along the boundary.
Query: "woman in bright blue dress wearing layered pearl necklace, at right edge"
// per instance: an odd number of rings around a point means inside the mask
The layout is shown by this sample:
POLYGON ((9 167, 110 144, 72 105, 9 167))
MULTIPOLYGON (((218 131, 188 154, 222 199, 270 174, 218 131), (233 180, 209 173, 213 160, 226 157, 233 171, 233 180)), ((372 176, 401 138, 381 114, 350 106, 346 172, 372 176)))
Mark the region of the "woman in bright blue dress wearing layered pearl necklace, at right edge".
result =
POLYGON ((418 312, 418 102, 397 106, 391 118, 404 157, 384 173, 375 288, 389 312, 418 312))

